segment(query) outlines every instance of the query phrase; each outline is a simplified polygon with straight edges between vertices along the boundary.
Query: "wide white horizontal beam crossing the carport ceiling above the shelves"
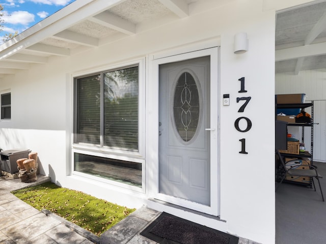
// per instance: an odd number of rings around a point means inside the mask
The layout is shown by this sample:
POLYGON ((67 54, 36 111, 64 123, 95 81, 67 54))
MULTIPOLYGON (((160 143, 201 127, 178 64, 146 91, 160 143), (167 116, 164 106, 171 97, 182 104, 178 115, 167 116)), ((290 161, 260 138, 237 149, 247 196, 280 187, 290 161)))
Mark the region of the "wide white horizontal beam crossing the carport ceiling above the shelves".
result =
POLYGON ((326 54, 326 43, 316 43, 307 46, 292 47, 275 51, 275 62, 299 57, 318 56, 326 54))

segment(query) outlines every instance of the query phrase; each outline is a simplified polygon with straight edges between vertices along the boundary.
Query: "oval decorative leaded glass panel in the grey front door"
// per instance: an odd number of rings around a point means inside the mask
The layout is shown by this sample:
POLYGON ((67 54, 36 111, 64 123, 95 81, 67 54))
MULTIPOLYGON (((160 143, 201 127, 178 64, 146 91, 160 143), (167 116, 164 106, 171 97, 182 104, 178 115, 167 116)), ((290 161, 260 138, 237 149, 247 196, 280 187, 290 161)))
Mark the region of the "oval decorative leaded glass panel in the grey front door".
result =
POLYGON ((194 77, 184 72, 178 78, 175 92, 173 115, 176 130, 183 141, 190 141, 196 134, 199 123, 199 94, 194 77))

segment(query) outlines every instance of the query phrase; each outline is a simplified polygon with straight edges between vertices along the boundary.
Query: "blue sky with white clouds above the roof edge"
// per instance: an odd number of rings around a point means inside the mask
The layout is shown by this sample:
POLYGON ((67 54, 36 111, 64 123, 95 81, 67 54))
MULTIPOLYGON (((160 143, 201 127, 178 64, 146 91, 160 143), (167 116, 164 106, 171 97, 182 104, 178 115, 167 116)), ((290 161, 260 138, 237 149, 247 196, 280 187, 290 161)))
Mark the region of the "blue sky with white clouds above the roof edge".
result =
POLYGON ((16 31, 19 34, 72 2, 74 0, 0 0, 4 7, 0 37, 16 31))

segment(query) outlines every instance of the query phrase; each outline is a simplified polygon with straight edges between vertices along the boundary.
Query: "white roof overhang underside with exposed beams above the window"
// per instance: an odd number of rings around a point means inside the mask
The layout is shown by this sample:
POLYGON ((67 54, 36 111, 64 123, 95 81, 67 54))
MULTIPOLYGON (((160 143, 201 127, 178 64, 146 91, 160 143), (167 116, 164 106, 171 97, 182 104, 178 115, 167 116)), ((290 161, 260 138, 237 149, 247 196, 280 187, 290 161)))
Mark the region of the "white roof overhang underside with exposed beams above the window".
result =
POLYGON ((201 12, 227 1, 76 0, 0 45, 0 77, 47 63, 52 55, 74 55, 185 18, 191 7, 201 12))

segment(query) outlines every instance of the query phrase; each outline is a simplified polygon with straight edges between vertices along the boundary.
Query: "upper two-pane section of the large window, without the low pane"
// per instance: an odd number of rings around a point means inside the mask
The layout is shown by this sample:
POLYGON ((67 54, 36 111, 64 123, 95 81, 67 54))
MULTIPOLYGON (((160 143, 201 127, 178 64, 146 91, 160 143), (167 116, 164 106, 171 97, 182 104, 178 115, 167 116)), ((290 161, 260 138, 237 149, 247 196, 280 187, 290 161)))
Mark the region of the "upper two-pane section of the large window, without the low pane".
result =
POLYGON ((75 80, 74 143, 138 151, 139 68, 75 80))

